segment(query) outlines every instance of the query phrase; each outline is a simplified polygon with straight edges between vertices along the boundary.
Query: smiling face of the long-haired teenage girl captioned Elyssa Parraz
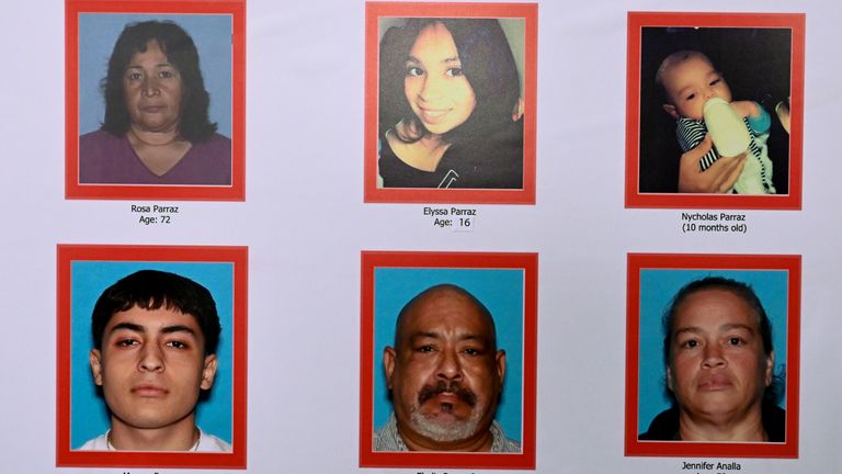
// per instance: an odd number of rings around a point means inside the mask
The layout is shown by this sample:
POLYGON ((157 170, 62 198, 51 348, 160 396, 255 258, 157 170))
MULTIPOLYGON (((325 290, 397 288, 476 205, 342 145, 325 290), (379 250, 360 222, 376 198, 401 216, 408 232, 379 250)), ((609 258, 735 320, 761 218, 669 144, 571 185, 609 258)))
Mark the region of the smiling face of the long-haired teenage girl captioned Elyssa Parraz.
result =
POLYGON ((477 106, 456 44, 442 23, 424 27, 416 38, 407 58, 403 93, 412 112, 433 135, 462 125, 477 106))

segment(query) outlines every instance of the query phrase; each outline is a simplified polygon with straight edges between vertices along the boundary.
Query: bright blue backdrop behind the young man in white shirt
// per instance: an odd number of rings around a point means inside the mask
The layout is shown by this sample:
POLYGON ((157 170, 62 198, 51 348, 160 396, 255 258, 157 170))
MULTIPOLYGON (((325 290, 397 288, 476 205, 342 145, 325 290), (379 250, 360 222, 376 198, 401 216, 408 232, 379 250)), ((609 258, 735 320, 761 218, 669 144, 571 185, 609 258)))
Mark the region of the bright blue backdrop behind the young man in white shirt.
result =
POLYGON ((91 314, 102 292, 138 270, 161 270, 189 278, 205 286, 216 302, 223 331, 217 348, 218 368, 207 398, 196 407, 196 425, 203 431, 231 442, 231 380, 234 350, 234 266, 231 263, 73 261, 70 447, 104 433, 111 426, 105 402, 96 393, 88 353, 93 348, 91 314))

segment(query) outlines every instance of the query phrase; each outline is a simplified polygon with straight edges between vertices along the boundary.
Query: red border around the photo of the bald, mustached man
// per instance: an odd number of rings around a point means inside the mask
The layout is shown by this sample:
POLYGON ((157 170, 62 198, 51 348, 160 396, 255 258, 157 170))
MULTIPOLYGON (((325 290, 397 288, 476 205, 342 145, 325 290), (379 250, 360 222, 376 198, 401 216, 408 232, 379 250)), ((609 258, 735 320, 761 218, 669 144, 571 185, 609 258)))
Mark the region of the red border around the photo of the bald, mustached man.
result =
POLYGON ((538 255, 490 252, 363 251, 360 350, 360 466, 445 469, 535 469, 535 387, 537 372, 538 255), (374 387, 374 271, 376 268, 522 269, 524 270, 523 315, 523 452, 442 453, 375 452, 374 387))

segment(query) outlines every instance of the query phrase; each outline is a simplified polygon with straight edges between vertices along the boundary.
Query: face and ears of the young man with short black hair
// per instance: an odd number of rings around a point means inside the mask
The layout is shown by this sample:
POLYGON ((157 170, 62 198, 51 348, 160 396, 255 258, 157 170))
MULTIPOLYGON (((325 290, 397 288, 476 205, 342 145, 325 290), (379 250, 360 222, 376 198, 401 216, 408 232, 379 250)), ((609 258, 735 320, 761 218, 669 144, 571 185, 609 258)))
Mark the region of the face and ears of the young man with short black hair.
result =
POLYGON ((111 410, 112 429, 193 427, 200 390, 216 374, 216 356, 204 354, 204 337, 193 316, 178 311, 115 313, 103 332, 102 350, 90 354, 96 385, 111 410))

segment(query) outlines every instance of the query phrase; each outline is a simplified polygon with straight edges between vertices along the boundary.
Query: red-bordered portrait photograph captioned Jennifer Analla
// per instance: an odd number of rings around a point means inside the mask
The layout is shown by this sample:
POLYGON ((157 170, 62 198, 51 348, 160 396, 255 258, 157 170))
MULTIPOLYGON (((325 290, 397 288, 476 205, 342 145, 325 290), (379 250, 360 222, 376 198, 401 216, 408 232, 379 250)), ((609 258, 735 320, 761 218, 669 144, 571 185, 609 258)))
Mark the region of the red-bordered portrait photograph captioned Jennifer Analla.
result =
POLYGON ((628 256, 626 455, 798 456, 799 256, 628 256))

